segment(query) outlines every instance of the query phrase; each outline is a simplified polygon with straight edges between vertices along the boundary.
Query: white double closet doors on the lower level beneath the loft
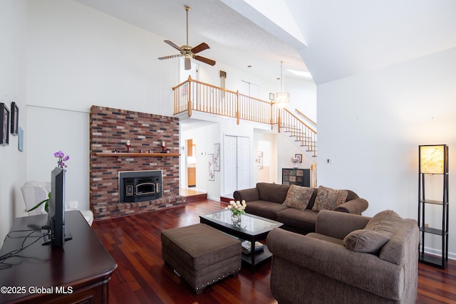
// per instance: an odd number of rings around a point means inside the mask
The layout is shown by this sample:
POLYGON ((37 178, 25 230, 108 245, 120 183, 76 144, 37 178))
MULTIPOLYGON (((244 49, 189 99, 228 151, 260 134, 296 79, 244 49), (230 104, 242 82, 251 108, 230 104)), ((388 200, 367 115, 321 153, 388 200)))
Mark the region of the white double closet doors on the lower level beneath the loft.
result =
POLYGON ((250 187, 250 139, 224 136, 224 193, 250 187))

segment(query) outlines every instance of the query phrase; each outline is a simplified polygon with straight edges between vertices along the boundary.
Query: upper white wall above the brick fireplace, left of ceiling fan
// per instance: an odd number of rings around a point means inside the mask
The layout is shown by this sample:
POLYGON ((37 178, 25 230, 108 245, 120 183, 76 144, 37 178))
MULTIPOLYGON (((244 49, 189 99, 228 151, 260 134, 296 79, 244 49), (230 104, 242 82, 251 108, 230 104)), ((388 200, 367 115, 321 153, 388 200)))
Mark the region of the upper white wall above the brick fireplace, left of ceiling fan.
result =
POLYGON ((162 37, 74 1, 29 6, 29 105, 172 113, 178 61, 157 60, 169 51, 162 37))

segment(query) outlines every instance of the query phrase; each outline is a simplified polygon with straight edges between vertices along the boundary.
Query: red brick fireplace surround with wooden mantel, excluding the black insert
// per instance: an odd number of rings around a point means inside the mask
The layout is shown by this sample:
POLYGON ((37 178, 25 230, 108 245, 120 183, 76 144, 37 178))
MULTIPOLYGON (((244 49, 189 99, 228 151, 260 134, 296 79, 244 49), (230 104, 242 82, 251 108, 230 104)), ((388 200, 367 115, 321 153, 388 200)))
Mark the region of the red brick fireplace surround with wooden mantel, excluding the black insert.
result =
POLYGON ((90 208, 95 219, 185 204, 185 197, 179 195, 179 153, 179 119, 93 105, 90 208), (128 141, 130 147, 126 147, 128 141), (120 199, 119 172, 141 171, 161 171, 161 197, 132 202, 120 199))

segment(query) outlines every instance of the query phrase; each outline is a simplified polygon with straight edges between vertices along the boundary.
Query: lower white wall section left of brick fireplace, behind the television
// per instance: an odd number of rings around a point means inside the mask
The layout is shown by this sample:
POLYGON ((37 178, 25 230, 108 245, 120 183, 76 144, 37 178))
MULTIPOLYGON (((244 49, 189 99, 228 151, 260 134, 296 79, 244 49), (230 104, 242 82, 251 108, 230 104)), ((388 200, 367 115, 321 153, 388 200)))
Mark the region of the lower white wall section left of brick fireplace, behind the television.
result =
POLYGON ((66 201, 79 201, 81 210, 89 209, 89 162, 87 112, 27 106, 28 147, 27 179, 51 182, 51 171, 57 166, 54 152, 70 156, 66 165, 66 201), (43 119, 46 117, 46 119, 43 119))

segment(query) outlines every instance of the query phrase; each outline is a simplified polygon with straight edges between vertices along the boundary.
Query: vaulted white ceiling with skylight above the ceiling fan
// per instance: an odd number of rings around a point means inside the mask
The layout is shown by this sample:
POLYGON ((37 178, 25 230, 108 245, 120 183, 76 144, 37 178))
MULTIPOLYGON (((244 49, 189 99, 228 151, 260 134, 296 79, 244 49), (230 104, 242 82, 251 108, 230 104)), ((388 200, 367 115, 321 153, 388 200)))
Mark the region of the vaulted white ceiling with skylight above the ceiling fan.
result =
POLYGON ((270 80, 280 61, 321 84, 456 47, 453 0, 76 1, 178 46, 188 5, 190 46, 211 47, 199 55, 270 80))

